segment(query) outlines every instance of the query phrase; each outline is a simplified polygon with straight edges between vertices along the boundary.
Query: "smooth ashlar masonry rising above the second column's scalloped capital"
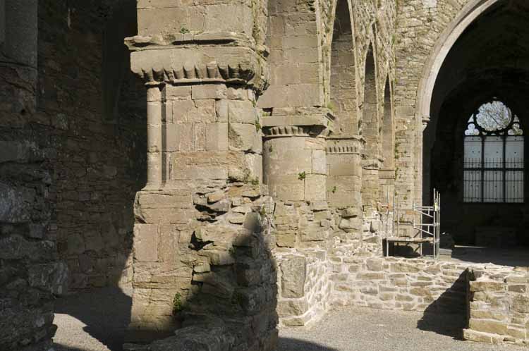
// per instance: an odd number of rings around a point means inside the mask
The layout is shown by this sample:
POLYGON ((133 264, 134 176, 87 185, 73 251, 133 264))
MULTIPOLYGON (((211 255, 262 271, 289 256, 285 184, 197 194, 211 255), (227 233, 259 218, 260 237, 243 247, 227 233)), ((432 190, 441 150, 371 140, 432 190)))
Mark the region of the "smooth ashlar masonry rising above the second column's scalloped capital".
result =
POLYGON ((318 11, 296 0, 268 1, 265 43, 269 87, 257 101, 263 109, 323 106, 322 46, 318 11))

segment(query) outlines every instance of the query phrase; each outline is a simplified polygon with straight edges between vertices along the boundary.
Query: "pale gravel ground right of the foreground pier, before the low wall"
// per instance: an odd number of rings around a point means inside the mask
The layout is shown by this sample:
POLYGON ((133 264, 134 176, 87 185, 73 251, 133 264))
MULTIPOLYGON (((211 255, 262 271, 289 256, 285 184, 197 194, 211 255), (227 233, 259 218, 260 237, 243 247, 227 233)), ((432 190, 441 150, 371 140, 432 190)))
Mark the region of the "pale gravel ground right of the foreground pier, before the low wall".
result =
POLYGON ((277 351, 527 351, 461 340, 452 315, 346 307, 303 328, 281 328, 277 351))

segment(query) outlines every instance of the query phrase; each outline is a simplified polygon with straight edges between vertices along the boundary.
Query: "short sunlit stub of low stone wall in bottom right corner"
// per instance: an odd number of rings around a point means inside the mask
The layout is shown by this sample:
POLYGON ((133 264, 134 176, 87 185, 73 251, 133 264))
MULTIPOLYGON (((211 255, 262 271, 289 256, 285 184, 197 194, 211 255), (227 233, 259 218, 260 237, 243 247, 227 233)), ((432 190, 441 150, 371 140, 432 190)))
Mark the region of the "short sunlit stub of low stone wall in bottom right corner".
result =
POLYGON ((529 267, 470 269, 466 340, 529 346, 529 267))

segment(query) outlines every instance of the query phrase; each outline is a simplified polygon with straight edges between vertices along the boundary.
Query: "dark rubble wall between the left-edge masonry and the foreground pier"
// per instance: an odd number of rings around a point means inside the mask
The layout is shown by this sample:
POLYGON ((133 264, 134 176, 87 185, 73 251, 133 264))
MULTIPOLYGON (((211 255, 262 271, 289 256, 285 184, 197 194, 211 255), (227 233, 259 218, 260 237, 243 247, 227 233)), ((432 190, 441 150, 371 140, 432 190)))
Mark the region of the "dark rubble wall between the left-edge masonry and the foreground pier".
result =
POLYGON ((122 63, 116 72, 103 64, 111 5, 39 1, 40 95, 32 122, 49 143, 48 228, 68 265, 69 290, 130 285, 132 276, 133 201, 145 184, 145 88, 130 72, 125 47, 123 56, 106 53, 122 63), (121 91, 111 119, 104 114, 108 89, 121 91))

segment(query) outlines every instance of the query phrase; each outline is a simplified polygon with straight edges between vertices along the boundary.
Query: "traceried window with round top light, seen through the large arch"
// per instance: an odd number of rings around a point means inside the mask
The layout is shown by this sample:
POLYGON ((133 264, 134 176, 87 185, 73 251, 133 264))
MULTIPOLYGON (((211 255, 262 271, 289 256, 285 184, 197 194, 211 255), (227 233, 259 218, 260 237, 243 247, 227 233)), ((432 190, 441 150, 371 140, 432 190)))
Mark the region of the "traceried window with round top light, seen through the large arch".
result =
POLYGON ((465 130, 464 202, 523 202, 523 130, 503 102, 482 104, 465 130))

